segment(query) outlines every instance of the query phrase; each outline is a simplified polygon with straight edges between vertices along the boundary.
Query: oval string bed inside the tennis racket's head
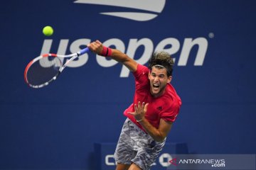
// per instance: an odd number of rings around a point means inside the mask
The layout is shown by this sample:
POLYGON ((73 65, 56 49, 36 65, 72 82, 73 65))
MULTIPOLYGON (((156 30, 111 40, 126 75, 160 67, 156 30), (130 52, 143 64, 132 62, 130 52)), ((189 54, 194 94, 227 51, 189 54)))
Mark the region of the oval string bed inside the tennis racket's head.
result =
POLYGON ((60 67, 62 67, 62 62, 58 57, 42 57, 28 68, 26 75, 28 84, 39 86, 52 81, 59 74, 60 67))

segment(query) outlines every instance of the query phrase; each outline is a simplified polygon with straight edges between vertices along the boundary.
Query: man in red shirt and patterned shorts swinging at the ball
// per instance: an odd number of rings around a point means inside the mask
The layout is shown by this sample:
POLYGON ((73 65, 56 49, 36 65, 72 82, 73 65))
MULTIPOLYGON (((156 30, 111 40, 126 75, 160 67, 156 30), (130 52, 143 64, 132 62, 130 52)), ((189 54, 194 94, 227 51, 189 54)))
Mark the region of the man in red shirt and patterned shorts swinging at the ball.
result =
POLYGON ((170 84, 174 61, 166 52, 155 52, 147 68, 98 40, 87 47, 121 62, 135 77, 134 102, 124 111, 127 120, 114 153, 116 170, 150 169, 181 107, 181 98, 170 84))

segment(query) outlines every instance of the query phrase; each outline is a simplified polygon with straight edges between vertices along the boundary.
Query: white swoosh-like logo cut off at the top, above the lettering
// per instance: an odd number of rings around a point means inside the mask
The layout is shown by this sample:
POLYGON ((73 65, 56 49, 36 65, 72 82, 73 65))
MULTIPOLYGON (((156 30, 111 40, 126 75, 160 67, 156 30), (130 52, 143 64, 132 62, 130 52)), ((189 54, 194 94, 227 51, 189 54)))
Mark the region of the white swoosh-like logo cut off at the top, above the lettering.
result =
POLYGON ((156 18, 163 11, 166 0, 77 0, 74 3, 139 9, 140 11, 138 12, 105 12, 100 14, 127 18, 134 21, 149 21, 156 18))

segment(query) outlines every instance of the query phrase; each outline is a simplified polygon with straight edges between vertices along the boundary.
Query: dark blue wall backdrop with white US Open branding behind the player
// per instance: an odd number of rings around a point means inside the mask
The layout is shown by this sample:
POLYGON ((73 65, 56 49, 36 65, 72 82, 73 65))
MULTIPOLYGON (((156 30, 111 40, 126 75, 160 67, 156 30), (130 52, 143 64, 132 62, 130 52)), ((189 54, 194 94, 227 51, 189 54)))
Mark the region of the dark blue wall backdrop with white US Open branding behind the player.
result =
POLYGON ((94 143, 117 142, 134 94, 121 64, 88 53, 43 89, 23 81, 41 52, 69 54, 97 39, 142 64, 153 50, 175 58, 171 84, 183 105, 168 142, 256 153, 256 2, 142 2, 0 2, 0 169, 92 170, 94 143))

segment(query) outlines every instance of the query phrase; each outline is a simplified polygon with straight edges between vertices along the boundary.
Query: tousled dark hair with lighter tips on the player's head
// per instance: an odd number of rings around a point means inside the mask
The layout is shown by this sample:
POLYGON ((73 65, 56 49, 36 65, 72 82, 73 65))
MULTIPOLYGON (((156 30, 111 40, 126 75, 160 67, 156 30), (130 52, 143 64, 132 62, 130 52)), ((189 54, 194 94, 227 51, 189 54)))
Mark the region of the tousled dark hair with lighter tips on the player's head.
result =
MULTIPOLYGON (((167 76, 171 76, 173 72, 174 60, 168 52, 154 52, 149 59, 149 69, 151 70, 153 66, 161 65, 166 68, 167 76)), ((157 66, 156 66, 157 67, 157 66)), ((161 67, 157 67, 161 68, 161 67)))

